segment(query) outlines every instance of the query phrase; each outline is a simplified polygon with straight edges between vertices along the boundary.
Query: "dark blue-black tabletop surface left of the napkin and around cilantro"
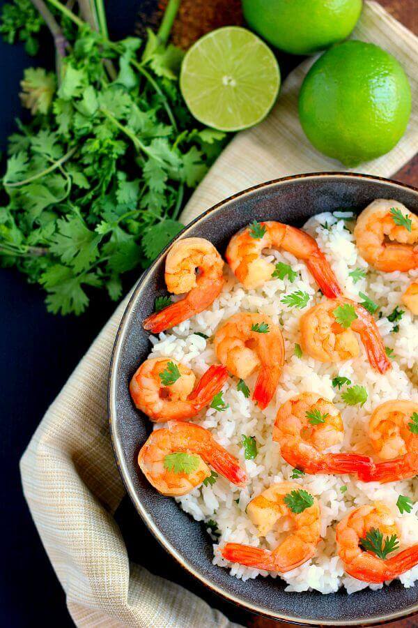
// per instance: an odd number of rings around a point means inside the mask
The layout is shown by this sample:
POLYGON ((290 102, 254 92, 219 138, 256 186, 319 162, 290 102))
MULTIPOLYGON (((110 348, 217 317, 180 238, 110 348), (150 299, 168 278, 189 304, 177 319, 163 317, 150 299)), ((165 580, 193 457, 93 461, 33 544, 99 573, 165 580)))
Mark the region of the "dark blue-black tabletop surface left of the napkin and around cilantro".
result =
MULTIPOLYGON (((0 0, 0 7, 3 1, 0 0)), ((152 1, 109 0, 108 22, 113 38, 132 33, 137 11, 152 1), (123 11, 121 10, 123 5, 123 11)), ((25 67, 49 66, 50 42, 45 41, 38 58, 27 57, 22 45, 0 40, 0 144, 4 155, 6 138, 21 115, 19 82, 25 67)), ((295 62, 281 61, 281 69, 295 62)), ((2 171, 4 161, 2 161, 2 171)), ((127 285, 126 287, 129 287, 127 285)), ((42 415, 65 380, 88 349, 114 310, 114 304, 95 292, 88 311, 80 317, 48 314, 44 293, 26 283, 13 270, 0 270, 0 382, 3 394, 0 420, 1 539, 0 625, 20 628, 42 622, 44 626, 72 626, 65 608, 61 585, 26 507, 18 463, 42 415)), ((107 364, 103 365, 108 368, 107 364)), ((229 617, 245 622, 246 613, 208 593, 160 548, 125 499, 117 513, 130 558, 154 573, 185 585, 222 608, 229 617)))

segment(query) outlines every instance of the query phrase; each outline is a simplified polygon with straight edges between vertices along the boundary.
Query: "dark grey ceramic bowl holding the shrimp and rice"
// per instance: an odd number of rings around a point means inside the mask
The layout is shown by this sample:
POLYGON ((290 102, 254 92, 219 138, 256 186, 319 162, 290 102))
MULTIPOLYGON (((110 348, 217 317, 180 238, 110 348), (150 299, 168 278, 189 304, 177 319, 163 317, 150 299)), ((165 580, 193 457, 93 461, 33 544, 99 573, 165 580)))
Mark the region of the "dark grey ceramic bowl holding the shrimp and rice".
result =
MULTIPOLYGON (((178 238, 199 236, 224 253, 231 236, 251 220, 280 220, 300 226, 322 211, 341 207, 361 211, 376 198, 394 198, 418 213, 418 190, 362 174, 302 174, 261 184, 224 200, 188 225, 178 238)), ((202 524, 163 497, 139 471, 137 454, 150 433, 150 421, 130 400, 128 384, 150 350, 142 321, 158 294, 167 294, 167 249, 141 277, 119 327, 111 359, 109 417, 118 467, 137 511, 162 546, 202 583, 249 611, 308 625, 372 625, 418 611, 418 587, 394 582, 373 592, 286 593, 279 578, 242 582, 212 565, 212 543, 202 524)))

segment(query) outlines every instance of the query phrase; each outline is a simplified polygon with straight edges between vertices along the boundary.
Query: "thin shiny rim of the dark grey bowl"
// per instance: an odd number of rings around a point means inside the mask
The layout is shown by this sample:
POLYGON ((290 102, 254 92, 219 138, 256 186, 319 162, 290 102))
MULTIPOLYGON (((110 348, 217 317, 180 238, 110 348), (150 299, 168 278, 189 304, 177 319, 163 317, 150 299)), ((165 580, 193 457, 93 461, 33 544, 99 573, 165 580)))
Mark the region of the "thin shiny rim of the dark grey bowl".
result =
POLYGON ((366 181, 376 181, 378 183, 387 184, 389 188, 400 188, 401 190, 407 190, 409 192, 415 193, 418 196, 418 188, 414 186, 410 186, 408 184, 403 184, 400 181, 395 181, 394 179, 387 179, 385 177, 378 177, 372 174, 362 174, 357 172, 308 172, 306 174, 292 174, 288 177, 281 177, 279 179, 272 179, 271 181, 264 181, 261 184, 257 184, 255 186, 251 186, 249 188, 245 188, 245 190, 240 190, 238 193, 235 193, 222 201, 219 201, 212 207, 203 211, 203 213, 196 216, 190 223, 185 225, 184 229, 181 230, 173 240, 161 251, 160 255, 156 257, 156 259, 150 264, 148 269, 144 271, 141 275, 137 283, 134 285, 132 289, 132 294, 130 295, 130 299, 127 303, 125 311, 123 313, 121 322, 118 327, 118 331, 116 332, 116 337, 114 341, 114 347, 111 352, 111 360, 109 365, 109 380, 108 380, 108 388, 107 388, 107 405, 108 405, 108 415, 109 415, 109 431, 111 436, 111 444, 114 450, 114 456, 116 458, 116 465, 118 467, 118 471, 121 474, 123 484, 125 485, 127 494, 130 496, 134 507, 137 509, 139 516, 141 516, 142 521, 146 524, 148 530, 150 530, 151 534, 157 539, 157 541, 164 547, 164 549, 183 567, 186 571, 197 578, 199 582, 206 586, 212 592, 215 592, 220 597, 226 599, 229 602, 235 604, 235 606, 239 606, 240 608, 249 611, 251 613, 256 613, 258 615, 262 615, 266 618, 280 620, 284 622, 288 622, 293 625, 302 625, 302 626, 372 626, 376 624, 389 623, 394 622, 396 620, 405 619, 415 615, 418 613, 418 601, 412 606, 410 609, 406 609, 406 611, 393 611, 391 613, 387 613, 386 615, 381 615, 378 618, 371 618, 370 620, 311 620, 306 618, 297 618, 286 615, 286 613, 277 613, 275 611, 271 611, 270 608, 265 608, 259 606, 257 604, 251 604, 251 602, 243 601, 235 594, 231 594, 230 592, 224 590, 219 587, 215 583, 212 583, 209 578, 203 576, 203 574, 199 574, 195 571, 192 565, 189 565, 187 560, 183 558, 180 552, 171 545, 169 541, 164 537, 164 534, 158 530, 157 526, 150 520, 148 517, 148 513, 146 509, 143 507, 141 500, 139 499, 139 495, 135 490, 132 479, 130 478, 130 474, 127 471, 125 462, 123 460, 123 451, 121 447, 121 440, 118 435, 118 426, 116 422, 116 373, 118 371, 119 359, 121 357, 121 346, 123 343, 123 339, 125 338, 125 333, 127 329, 127 321, 130 318, 130 314, 134 304, 137 302, 137 297, 141 292, 141 287, 146 283, 148 275, 155 269, 155 267, 160 263, 162 257, 164 257, 168 251, 168 249, 176 242, 178 239, 184 237, 189 229, 194 227, 197 223, 199 223, 203 218, 206 218, 209 214, 213 214, 216 211, 222 209, 226 204, 231 201, 234 201, 242 196, 246 196, 249 193, 254 192, 255 190, 259 190, 261 188, 268 188, 270 186, 277 186, 278 184, 284 184, 288 181, 303 181, 306 179, 364 179, 366 181))

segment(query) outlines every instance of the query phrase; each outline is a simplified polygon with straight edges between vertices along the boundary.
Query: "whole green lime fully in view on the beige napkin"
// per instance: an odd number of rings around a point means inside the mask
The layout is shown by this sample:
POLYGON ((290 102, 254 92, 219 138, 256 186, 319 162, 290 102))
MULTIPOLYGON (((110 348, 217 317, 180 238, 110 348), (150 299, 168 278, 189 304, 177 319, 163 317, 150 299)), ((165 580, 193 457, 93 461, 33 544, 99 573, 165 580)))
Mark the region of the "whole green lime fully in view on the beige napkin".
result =
POLYGON ((302 128, 321 153, 355 166, 390 151, 411 112, 408 78, 392 54, 362 41, 328 50, 299 95, 302 128))

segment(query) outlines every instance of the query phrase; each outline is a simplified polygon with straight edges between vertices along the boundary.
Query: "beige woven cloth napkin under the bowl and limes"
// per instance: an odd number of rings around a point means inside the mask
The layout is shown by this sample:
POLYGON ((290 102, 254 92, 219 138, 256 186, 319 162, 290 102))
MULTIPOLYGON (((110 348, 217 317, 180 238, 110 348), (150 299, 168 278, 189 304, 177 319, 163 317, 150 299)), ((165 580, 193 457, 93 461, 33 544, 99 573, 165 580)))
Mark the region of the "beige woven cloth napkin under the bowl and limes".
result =
MULTIPOLYGON (((354 36, 378 43, 401 61, 417 102, 417 38, 374 2, 364 6, 354 36)), ((286 79, 270 117, 229 144, 187 205, 184 222, 261 181, 341 169, 311 148, 297 120, 297 91, 310 62, 286 79)), ((417 149, 417 124, 415 110, 398 146, 364 170, 383 176, 396 172, 417 149)), ((114 521, 125 491, 109 438, 107 375, 125 304, 126 299, 33 435, 21 461, 24 495, 78 626, 233 628, 192 593, 132 564, 114 521)))

